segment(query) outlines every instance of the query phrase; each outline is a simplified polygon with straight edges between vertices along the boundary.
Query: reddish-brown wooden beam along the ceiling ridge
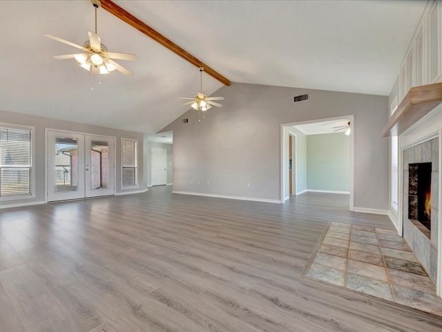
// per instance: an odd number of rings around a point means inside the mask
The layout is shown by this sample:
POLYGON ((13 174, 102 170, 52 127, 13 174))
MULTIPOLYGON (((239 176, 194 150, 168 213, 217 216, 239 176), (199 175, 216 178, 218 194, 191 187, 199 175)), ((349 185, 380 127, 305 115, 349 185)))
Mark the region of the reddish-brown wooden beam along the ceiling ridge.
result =
POLYGON ((135 16, 133 16, 130 12, 127 12, 120 6, 118 6, 116 3, 114 3, 111 0, 101 0, 102 8, 104 10, 107 10, 112 15, 115 15, 122 21, 125 21, 127 24, 132 26, 133 28, 139 30, 141 33, 144 33, 147 37, 150 37, 151 39, 155 40, 155 42, 158 42, 162 44, 162 46, 169 48, 173 53, 176 53, 177 55, 180 55, 183 59, 187 60, 194 66, 200 68, 204 68, 204 72, 211 75, 211 77, 215 78, 215 80, 220 81, 222 84, 230 85, 231 82, 224 76, 222 76, 217 71, 213 70, 211 67, 204 64, 204 62, 200 61, 193 55, 191 55, 186 50, 182 49, 180 46, 177 46, 174 42, 172 42, 170 39, 164 37, 161 33, 159 33, 157 30, 151 28, 147 24, 145 24, 143 21, 140 21, 140 19, 137 19, 135 16))

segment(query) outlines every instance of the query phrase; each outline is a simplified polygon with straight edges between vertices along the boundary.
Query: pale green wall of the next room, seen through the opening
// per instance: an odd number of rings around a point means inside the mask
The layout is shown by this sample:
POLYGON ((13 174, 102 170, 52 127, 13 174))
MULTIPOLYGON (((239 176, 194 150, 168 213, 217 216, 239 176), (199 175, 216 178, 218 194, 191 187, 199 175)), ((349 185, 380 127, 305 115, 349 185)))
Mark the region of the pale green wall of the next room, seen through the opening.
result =
POLYGON ((349 192, 349 136, 342 132, 307 136, 307 188, 349 192))

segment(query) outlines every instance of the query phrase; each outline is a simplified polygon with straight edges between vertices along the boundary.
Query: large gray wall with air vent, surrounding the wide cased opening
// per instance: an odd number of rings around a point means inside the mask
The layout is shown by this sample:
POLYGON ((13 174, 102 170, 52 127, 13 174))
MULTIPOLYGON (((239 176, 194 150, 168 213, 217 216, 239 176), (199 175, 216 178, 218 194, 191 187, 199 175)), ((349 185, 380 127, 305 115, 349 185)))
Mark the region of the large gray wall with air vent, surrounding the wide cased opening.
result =
POLYGON ((354 115, 354 206, 387 210, 386 96, 242 83, 214 95, 224 107, 201 122, 189 110, 162 129, 173 131, 174 190, 280 200, 280 124, 354 115))

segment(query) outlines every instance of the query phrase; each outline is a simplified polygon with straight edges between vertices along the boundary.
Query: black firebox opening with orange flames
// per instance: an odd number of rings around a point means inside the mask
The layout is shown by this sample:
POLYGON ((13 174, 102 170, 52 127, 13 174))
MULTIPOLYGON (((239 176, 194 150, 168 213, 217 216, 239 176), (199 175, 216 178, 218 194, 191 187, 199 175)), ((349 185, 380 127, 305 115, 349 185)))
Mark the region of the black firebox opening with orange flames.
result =
POLYGON ((431 230, 431 163, 409 165, 408 219, 431 230))

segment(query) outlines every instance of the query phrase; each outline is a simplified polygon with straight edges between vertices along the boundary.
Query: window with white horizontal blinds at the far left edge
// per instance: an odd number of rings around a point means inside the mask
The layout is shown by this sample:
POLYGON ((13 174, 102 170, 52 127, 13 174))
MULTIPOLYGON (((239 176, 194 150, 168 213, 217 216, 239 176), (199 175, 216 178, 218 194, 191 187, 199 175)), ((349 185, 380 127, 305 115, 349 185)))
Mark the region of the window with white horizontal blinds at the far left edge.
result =
POLYGON ((32 136, 31 127, 0 124, 0 199, 32 196, 32 136))

